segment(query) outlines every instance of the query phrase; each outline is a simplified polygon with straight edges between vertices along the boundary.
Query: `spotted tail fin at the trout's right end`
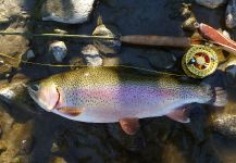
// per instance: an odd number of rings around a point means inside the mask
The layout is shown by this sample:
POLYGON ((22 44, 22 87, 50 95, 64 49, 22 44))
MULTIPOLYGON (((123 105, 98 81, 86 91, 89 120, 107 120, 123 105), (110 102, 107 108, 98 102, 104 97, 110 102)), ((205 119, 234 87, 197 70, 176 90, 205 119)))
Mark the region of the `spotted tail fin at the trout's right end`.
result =
POLYGON ((212 104, 215 106, 224 106, 227 102, 226 91, 221 87, 215 87, 214 95, 215 95, 215 98, 212 104))

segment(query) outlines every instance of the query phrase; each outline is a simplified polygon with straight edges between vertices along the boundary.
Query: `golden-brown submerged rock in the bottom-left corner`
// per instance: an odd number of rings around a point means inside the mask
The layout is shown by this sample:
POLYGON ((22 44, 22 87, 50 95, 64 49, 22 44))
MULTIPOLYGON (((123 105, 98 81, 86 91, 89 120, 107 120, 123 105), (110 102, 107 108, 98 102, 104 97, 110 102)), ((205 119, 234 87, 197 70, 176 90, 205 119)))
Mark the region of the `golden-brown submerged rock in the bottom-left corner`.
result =
POLYGON ((32 136, 33 123, 16 123, 2 108, 0 109, 0 120, 3 130, 0 140, 0 162, 10 163, 28 160, 29 152, 23 152, 22 142, 32 136))

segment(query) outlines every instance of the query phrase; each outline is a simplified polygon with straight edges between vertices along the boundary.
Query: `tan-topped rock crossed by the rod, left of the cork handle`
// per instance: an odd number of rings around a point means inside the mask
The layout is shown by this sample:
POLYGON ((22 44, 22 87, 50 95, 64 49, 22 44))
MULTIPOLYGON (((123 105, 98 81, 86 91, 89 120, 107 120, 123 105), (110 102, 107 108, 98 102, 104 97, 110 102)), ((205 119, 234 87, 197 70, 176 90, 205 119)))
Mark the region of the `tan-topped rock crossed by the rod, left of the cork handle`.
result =
MULTIPOLYGON (((109 26, 101 24, 96 27, 96 29, 92 33, 92 36, 107 36, 112 38, 119 37, 117 29, 114 26, 109 26)), ((111 54, 111 53, 119 53, 121 49, 121 41, 120 40, 112 40, 112 39, 100 39, 95 40, 94 45, 97 47, 97 49, 104 53, 104 54, 111 54)))

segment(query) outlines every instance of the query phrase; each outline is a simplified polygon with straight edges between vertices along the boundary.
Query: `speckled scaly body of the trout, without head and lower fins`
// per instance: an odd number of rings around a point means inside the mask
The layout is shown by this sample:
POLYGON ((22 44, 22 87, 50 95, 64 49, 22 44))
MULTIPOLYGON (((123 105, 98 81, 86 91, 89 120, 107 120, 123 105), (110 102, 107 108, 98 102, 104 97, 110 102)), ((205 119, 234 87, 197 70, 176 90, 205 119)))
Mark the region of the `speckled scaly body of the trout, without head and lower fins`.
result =
POLYGON ((207 103, 213 98, 209 87, 181 84, 171 77, 119 73, 116 68, 86 67, 54 75, 41 82, 60 92, 57 108, 80 108, 77 116, 67 118, 109 123, 123 117, 162 116, 184 104, 207 103))

